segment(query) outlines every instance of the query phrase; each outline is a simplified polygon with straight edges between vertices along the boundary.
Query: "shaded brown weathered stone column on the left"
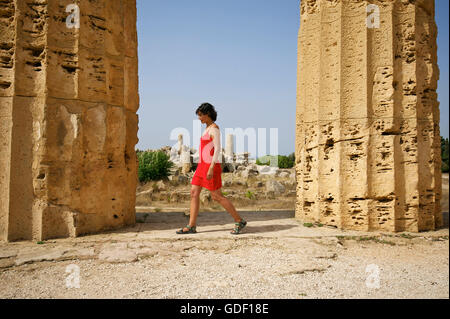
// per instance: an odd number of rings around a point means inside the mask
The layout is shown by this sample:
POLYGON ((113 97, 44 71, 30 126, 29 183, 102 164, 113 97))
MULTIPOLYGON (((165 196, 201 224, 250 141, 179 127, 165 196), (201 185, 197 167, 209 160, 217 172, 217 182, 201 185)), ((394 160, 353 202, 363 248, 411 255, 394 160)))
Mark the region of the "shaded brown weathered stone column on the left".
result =
POLYGON ((0 12, 0 238, 134 224, 135 0, 5 0, 0 12))

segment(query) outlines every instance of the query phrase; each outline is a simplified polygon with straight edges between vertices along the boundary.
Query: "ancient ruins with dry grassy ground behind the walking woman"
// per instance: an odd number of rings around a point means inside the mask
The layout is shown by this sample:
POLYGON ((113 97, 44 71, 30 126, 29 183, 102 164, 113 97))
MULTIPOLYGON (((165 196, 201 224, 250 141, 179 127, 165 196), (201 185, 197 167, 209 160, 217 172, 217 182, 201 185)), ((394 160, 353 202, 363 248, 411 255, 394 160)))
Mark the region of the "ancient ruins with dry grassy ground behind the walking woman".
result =
MULTIPOLYGON (((227 134, 225 149, 222 148, 222 193, 239 207, 239 211, 290 211, 295 209, 295 168, 258 165, 249 152, 233 151, 234 134, 227 134)), ((184 212, 190 214, 191 180, 197 167, 198 149, 178 143, 150 152, 162 152, 174 164, 170 176, 159 181, 140 182, 136 190, 136 212, 149 215, 152 212, 184 212)), ((291 154, 293 155, 293 154, 291 154)), ((290 155, 290 156, 291 156, 290 155)), ((261 158, 259 158, 262 160, 261 158)), ((223 211, 210 192, 200 193, 201 212, 223 211)), ((137 216, 137 220, 139 216, 137 216)))

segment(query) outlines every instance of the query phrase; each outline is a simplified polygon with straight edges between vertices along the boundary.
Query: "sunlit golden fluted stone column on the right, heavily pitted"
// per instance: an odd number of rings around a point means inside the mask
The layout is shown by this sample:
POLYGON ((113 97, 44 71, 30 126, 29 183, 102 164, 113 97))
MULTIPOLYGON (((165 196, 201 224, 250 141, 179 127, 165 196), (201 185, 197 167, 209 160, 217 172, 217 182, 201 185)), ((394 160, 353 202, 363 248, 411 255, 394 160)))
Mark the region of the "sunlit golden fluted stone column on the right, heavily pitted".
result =
POLYGON ((434 0, 301 1, 298 219, 355 230, 442 225, 434 11, 434 0))

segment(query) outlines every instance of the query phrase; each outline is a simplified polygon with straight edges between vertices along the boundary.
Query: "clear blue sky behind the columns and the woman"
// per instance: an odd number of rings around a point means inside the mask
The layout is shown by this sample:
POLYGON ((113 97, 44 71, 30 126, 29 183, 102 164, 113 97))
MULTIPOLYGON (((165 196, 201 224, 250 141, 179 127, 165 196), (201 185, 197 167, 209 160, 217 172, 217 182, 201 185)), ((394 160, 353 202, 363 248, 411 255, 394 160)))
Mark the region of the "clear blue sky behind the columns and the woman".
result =
MULTIPOLYGON (((137 0, 141 99, 137 148, 174 145, 170 132, 177 127, 191 132, 191 147, 197 148, 198 141, 192 141, 194 112, 209 102, 218 111, 222 129, 278 128, 279 154, 294 152, 299 2, 137 0)), ((438 99, 445 137, 448 4, 436 0, 438 99)))

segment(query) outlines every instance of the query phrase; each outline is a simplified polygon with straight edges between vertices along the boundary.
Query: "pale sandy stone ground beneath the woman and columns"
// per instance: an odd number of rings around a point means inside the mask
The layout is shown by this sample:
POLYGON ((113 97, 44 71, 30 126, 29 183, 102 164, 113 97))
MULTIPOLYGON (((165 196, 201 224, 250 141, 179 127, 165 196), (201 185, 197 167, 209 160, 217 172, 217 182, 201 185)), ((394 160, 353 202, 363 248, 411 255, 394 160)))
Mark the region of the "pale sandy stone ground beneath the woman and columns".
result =
POLYGON ((0 298, 449 297, 448 227, 362 233, 305 227, 292 211, 242 215, 240 236, 226 213, 201 213, 198 234, 176 235, 187 217, 172 212, 119 232, 0 244, 0 298))

